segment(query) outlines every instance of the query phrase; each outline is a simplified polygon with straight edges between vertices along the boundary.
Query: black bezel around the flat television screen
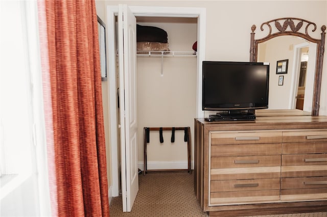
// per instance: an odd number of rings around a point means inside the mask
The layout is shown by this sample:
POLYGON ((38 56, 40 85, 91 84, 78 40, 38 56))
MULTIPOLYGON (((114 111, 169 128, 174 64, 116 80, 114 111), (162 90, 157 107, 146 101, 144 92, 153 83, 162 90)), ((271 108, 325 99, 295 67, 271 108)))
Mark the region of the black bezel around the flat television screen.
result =
MULTIPOLYGON (((245 104, 245 103, 243 103, 245 104)), ((263 62, 232 62, 232 61, 202 61, 202 111, 253 111, 253 110, 258 110, 258 109, 264 109, 264 108, 268 108, 268 104, 269 104, 269 63, 263 63, 263 62), (249 106, 239 106, 239 107, 235 107, 235 106, 226 106, 226 107, 219 107, 219 106, 212 106, 212 107, 208 107, 208 106, 204 106, 204 65, 205 64, 220 64, 220 65, 265 65, 267 66, 267 79, 266 79, 266 103, 265 105, 261 105, 260 106, 251 106, 250 104, 253 102, 249 102, 246 104, 249 104, 249 106)))

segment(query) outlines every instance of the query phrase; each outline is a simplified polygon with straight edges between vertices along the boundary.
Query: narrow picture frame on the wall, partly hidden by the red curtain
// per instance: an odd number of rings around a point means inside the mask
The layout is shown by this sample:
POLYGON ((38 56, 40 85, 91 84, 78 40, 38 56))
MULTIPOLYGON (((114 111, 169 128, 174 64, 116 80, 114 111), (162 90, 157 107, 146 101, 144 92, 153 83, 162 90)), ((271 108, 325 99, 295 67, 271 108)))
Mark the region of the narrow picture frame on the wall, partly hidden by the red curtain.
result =
POLYGON ((99 33, 99 48, 100 48, 100 68, 101 80, 107 80, 107 57, 106 57, 106 26, 98 17, 98 33, 99 33))

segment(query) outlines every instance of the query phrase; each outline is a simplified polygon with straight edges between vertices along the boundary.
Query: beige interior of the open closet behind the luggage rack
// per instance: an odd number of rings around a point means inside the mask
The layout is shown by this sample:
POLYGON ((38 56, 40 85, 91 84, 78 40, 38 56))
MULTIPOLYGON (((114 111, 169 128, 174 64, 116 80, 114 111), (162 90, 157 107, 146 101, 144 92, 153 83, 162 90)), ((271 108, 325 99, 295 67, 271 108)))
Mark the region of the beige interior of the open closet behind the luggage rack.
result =
MULTIPOLYGON (((193 134, 193 120, 196 117, 197 55, 192 47, 197 41, 197 18, 136 17, 136 23, 165 30, 170 49, 162 53, 137 54, 140 162, 143 159, 144 127, 190 126, 193 134)), ((150 132, 151 143, 147 145, 148 169, 188 168, 188 156, 185 151, 187 145, 183 141, 183 132, 176 131, 174 143, 170 142, 170 131, 164 131, 163 137, 164 143, 160 143, 158 134, 150 132)))

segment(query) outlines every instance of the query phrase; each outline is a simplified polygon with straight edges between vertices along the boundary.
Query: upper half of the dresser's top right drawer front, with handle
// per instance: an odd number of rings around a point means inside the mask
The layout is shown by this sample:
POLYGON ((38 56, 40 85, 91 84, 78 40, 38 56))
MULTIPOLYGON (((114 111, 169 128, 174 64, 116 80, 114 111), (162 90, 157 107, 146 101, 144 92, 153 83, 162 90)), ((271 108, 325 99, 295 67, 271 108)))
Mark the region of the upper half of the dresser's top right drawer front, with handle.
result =
POLYGON ((283 132, 283 143, 327 142, 327 129, 283 132))

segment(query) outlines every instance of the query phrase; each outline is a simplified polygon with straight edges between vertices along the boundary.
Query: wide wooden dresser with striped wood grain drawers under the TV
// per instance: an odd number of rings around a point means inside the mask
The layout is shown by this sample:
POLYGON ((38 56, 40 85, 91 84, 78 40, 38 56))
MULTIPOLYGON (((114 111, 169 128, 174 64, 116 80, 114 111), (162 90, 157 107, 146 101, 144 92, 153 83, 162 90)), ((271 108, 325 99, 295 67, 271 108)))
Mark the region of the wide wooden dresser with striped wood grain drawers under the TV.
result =
POLYGON ((327 211, 327 117, 195 119, 195 193, 210 216, 327 211))

